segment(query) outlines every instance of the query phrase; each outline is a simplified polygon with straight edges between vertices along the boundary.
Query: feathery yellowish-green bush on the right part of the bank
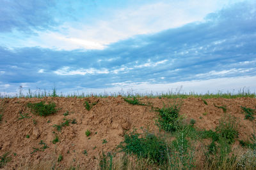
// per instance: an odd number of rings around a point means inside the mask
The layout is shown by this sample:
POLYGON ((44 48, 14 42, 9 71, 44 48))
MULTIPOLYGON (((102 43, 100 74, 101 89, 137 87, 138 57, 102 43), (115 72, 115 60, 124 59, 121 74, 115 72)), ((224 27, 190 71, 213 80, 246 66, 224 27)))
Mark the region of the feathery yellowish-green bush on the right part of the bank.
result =
POLYGON ((238 137, 236 117, 225 115, 220 119, 220 124, 216 131, 220 133, 221 138, 225 138, 228 144, 232 144, 238 137))

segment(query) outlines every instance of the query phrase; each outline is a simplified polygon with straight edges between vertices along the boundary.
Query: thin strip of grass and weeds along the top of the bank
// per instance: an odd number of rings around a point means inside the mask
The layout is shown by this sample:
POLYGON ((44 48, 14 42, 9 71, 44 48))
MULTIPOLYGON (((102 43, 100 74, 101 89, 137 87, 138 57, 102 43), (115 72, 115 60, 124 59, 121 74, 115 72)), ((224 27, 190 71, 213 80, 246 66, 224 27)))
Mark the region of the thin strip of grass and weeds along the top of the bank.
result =
MULTIPOLYGON (((202 99, 211 99, 211 98, 226 98, 226 99, 234 99, 234 98, 237 98, 237 97, 252 97, 252 98, 255 98, 256 97, 256 93, 254 92, 250 92, 250 90, 245 90, 245 89, 242 89, 242 90, 239 90, 238 92, 221 92, 221 91, 218 91, 216 93, 210 93, 210 92, 207 92, 205 94, 197 94, 195 92, 189 92, 189 93, 186 93, 186 92, 183 92, 183 93, 180 93, 180 92, 166 92, 166 93, 156 93, 156 94, 153 94, 153 93, 136 93, 136 92, 133 92, 133 91, 127 91, 127 92, 113 92, 113 93, 108 93, 108 92, 104 92, 104 93, 99 93, 99 94, 93 94, 93 93, 85 93, 85 92, 82 92, 81 94, 79 94, 79 92, 74 92, 73 94, 63 94, 62 92, 60 92, 60 94, 57 94, 57 89, 56 88, 53 88, 52 89, 52 92, 47 92, 46 90, 44 90, 43 92, 41 92, 41 90, 35 90, 35 92, 32 92, 30 89, 28 89, 28 92, 26 94, 23 94, 22 93, 22 88, 20 88, 20 91, 19 91, 19 94, 16 94, 15 96, 8 96, 8 95, 5 95, 3 96, 1 93, 0 93, 0 99, 4 99, 4 98, 13 98, 13 97, 17 97, 17 98, 20 98, 20 97, 26 97, 26 98, 33 98, 33 97, 36 97, 36 98, 42 98, 42 97, 79 97, 79 98, 84 98, 84 97, 117 97, 117 96, 122 96, 122 97, 152 97, 152 98, 155 98, 155 97, 164 97, 164 98, 170 98, 170 99, 173 99, 173 98, 180 98, 180 99, 186 99, 188 97, 201 97, 202 99)), ((180 90, 179 90, 180 91, 180 90)))

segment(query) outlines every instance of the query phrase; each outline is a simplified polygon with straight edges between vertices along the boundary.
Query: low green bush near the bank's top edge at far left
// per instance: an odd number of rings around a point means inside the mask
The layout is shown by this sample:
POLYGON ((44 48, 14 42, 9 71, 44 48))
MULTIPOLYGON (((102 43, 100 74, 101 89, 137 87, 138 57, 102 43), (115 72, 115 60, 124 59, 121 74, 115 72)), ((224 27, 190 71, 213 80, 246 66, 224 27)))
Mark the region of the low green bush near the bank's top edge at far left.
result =
POLYGON ((41 117, 46 117, 58 111, 55 108, 55 103, 45 104, 44 101, 41 101, 40 103, 28 103, 27 106, 28 108, 31 108, 35 115, 40 115, 41 117))

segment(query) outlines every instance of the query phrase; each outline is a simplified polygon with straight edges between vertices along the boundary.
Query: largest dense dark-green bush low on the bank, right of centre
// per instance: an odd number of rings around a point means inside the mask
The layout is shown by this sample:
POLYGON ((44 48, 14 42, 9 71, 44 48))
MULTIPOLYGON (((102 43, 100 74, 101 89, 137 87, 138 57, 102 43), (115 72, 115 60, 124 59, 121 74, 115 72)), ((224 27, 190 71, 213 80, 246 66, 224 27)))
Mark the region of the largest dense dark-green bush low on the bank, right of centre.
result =
POLYGON ((163 139, 149 133, 139 138, 140 135, 136 132, 125 134, 124 141, 118 147, 122 148, 122 151, 126 153, 148 158, 153 163, 162 164, 166 162, 168 158, 166 144, 163 139))

